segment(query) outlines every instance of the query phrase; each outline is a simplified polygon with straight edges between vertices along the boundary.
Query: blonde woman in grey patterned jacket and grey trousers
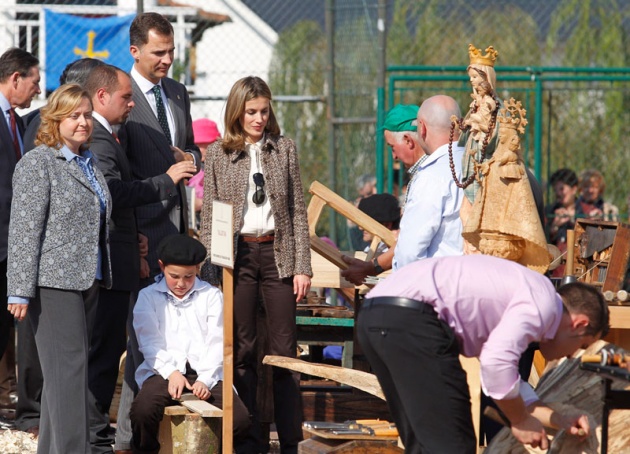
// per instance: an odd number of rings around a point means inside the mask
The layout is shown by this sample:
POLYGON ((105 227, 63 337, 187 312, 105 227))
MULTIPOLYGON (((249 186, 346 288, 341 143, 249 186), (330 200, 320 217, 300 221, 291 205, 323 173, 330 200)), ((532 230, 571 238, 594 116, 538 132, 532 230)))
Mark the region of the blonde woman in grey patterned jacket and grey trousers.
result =
POLYGON ((88 328, 111 286, 111 198, 85 149, 92 103, 62 85, 41 110, 39 145, 17 163, 9 224, 9 311, 28 320, 44 377, 38 453, 90 452, 88 328))

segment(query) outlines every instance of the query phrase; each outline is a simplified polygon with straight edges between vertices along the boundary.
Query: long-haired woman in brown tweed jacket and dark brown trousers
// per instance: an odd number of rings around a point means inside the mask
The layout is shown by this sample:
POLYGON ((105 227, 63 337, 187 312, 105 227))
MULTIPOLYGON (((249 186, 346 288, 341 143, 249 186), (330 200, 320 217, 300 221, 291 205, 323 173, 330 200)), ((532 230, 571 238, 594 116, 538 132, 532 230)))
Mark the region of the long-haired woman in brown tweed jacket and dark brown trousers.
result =
MULTIPOLYGON (((234 384, 252 415, 249 446, 259 452, 256 411, 256 318, 259 292, 267 313, 271 355, 295 357, 296 302, 310 288, 308 221, 298 155, 280 135, 271 91, 259 77, 237 81, 227 99, 225 137, 208 148, 201 240, 211 251, 212 201, 229 202, 234 218, 234 384)), ((210 257, 210 253, 208 254, 210 257)), ((219 283, 209 258, 202 278, 219 283)), ((273 368, 275 423, 283 453, 302 439, 298 377, 273 368)))

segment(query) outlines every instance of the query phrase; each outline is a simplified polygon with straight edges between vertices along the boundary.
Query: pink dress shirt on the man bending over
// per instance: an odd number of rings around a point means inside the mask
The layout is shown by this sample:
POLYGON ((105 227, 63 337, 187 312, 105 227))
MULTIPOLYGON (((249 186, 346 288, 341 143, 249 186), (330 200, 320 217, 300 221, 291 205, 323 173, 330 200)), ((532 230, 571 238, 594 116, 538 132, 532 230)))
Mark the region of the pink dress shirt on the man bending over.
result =
POLYGON ((424 301, 453 329, 460 352, 479 357, 484 392, 493 399, 520 394, 518 361, 531 342, 555 336, 562 299, 551 281, 518 263, 484 255, 411 263, 379 283, 367 298, 398 296, 424 301))

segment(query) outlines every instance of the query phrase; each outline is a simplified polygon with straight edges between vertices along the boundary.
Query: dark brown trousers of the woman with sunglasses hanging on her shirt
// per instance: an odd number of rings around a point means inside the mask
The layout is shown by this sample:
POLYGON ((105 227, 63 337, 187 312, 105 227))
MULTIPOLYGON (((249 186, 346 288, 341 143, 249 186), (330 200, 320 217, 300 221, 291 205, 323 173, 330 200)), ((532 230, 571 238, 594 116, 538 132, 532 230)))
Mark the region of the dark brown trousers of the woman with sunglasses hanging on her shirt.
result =
MULTIPOLYGON (((258 385, 256 319, 259 294, 267 313, 270 355, 297 355, 296 302, 293 279, 280 279, 273 243, 239 242, 234 267, 234 385, 252 415, 252 437, 260 439, 256 409, 258 385)), ((282 453, 297 453, 302 440, 299 375, 273 368, 274 420, 282 453)), ((256 451, 252 447, 250 452, 256 451)))

